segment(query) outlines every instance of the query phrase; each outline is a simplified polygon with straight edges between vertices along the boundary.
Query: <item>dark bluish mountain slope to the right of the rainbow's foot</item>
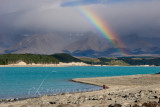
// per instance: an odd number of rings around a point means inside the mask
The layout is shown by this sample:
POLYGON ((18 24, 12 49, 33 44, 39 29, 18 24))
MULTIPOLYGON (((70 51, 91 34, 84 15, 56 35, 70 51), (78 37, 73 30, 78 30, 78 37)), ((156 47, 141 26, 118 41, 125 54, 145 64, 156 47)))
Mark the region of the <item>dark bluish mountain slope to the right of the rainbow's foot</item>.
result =
POLYGON ((136 34, 124 36, 122 41, 132 55, 160 54, 160 37, 143 37, 136 34))

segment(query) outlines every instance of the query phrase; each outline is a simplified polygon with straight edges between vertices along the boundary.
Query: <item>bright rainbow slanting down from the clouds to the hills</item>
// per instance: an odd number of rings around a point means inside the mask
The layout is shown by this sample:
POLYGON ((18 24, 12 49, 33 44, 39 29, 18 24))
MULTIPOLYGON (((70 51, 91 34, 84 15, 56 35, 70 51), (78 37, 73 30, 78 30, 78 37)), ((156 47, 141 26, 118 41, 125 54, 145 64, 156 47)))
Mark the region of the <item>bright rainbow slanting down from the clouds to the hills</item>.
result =
POLYGON ((101 20, 94 12, 89 11, 86 8, 77 7, 80 14, 85 17, 90 24, 102 35, 107 41, 117 49, 121 56, 126 56, 124 51, 125 46, 120 39, 113 33, 113 31, 101 20))

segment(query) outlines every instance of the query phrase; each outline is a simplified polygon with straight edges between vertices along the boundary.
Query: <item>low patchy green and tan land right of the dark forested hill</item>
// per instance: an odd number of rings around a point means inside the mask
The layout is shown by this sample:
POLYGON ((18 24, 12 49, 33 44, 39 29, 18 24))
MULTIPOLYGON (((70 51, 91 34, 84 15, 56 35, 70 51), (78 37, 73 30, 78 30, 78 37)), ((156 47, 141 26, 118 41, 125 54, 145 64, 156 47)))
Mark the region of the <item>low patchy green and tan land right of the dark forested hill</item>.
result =
POLYGON ((154 65, 160 66, 159 57, 118 57, 118 58, 80 58, 88 64, 99 64, 99 65, 154 65), (95 60, 96 59, 96 60, 95 60))

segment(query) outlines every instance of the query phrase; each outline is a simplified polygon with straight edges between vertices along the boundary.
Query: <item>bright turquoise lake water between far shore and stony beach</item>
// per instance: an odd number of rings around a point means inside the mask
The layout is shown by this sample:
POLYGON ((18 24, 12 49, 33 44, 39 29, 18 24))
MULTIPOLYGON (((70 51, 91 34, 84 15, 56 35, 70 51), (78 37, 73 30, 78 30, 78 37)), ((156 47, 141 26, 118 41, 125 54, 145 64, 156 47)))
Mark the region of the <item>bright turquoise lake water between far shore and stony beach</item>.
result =
POLYGON ((0 99, 98 90, 73 78, 152 74, 160 67, 0 67, 0 99))

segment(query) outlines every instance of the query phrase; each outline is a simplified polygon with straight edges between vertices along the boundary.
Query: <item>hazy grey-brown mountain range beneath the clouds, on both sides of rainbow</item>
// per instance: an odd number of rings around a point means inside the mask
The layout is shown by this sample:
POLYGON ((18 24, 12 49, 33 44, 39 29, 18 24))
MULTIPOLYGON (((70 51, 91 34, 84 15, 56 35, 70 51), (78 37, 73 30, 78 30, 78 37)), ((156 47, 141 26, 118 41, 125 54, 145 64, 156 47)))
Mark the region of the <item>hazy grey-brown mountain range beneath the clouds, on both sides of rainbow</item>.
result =
MULTIPOLYGON (((122 47, 128 55, 159 55, 160 37, 145 37, 136 34, 122 36, 122 47)), ((3 41, 4 42, 4 41, 3 41)), ((31 34, 6 47, 0 43, 0 53, 54 54, 68 53, 73 56, 113 57, 117 49, 106 38, 96 33, 41 33, 31 34)))

